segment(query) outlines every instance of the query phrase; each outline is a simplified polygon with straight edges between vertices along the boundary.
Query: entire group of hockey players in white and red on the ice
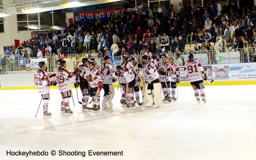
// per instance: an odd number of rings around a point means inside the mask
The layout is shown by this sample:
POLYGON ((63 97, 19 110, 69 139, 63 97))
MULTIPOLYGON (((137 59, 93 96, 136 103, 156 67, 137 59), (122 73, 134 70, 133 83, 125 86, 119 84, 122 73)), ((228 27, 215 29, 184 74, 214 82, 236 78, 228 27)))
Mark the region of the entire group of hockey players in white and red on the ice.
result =
MULTIPOLYGON (((95 58, 83 58, 82 64, 78 65, 77 62, 74 72, 70 72, 66 70, 66 62, 60 60, 56 75, 48 77, 45 71, 45 62, 39 62, 40 69, 35 73, 35 82, 38 92, 42 96, 43 115, 51 116, 51 113, 48 112, 49 86, 57 84, 62 96, 61 111, 67 114, 73 113, 69 107, 69 98, 72 96, 72 80, 75 80, 75 88, 80 86, 83 95, 81 103, 83 111, 100 109, 102 88, 104 96, 101 107, 112 108, 112 99, 115 95, 113 83, 115 82, 118 82, 122 88, 120 102, 128 108, 135 107, 135 103, 143 107, 153 107, 154 105, 161 107, 163 103, 177 100, 180 70, 179 66, 174 63, 173 56, 168 57, 166 53, 159 57, 144 55, 138 61, 136 57, 123 55, 121 66, 116 66, 114 59, 113 63, 112 65, 111 57, 105 56, 104 63, 99 67, 95 58), (143 100, 140 100, 139 91, 142 92, 143 100), (136 101, 134 101, 134 93, 136 101), (162 94, 164 98, 162 98, 162 94), (92 97, 90 102, 89 97, 92 97), (89 107, 91 103, 93 106, 89 107)), ((189 77, 197 102, 200 102, 200 92, 201 99, 205 103, 203 80, 207 80, 207 75, 202 65, 193 59, 192 53, 189 55, 184 71, 185 75, 189 77)))

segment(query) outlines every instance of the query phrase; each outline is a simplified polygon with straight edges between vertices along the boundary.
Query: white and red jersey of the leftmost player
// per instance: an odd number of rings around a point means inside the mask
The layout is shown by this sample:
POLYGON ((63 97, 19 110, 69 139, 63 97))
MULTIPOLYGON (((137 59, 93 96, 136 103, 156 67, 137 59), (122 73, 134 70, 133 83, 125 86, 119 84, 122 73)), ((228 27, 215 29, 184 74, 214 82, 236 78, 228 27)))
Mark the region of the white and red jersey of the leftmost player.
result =
POLYGON ((45 70, 39 69, 34 74, 35 77, 35 84, 37 86, 37 90, 39 94, 48 94, 50 81, 48 80, 48 74, 45 70))

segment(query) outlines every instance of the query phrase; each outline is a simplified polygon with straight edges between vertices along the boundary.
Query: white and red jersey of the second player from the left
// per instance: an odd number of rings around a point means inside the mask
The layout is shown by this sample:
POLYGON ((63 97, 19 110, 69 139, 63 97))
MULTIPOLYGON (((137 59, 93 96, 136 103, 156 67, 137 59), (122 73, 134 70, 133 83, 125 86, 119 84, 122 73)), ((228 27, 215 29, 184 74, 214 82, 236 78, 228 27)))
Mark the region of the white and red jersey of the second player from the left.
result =
POLYGON ((58 86, 61 92, 71 90, 71 80, 75 80, 75 75, 64 68, 58 69, 56 73, 58 86))

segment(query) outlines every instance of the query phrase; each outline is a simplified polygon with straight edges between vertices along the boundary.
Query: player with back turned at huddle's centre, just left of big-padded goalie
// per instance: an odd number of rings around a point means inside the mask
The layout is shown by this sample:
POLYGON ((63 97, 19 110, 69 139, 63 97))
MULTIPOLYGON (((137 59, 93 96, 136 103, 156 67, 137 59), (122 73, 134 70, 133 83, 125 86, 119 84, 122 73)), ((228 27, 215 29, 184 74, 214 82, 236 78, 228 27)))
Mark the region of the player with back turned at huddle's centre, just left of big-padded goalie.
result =
POLYGON ((127 107, 134 107, 134 97, 133 97, 133 87, 135 85, 135 74, 134 66, 130 60, 128 60, 128 55, 123 55, 122 72, 121 74, 125 78, 126 87, 126 104, 127 107))

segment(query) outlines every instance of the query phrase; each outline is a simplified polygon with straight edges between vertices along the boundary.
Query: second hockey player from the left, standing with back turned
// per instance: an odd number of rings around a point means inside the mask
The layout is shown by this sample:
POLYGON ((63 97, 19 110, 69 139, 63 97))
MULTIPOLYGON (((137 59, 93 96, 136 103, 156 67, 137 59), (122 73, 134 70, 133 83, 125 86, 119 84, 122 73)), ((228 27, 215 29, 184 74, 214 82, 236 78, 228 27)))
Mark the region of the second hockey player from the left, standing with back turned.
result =
POLYGON ((64 106, 62 106, 61 111, 67 114, 72 114, 72 110, 69 107, 69 98, 71 97, 71 80, 75 80, 75 75, 66 70, 66 61, 60 61, 61 68, 58 69, 56 73, 59 90, 61 92, 62 98, 64 99, 64 106))

